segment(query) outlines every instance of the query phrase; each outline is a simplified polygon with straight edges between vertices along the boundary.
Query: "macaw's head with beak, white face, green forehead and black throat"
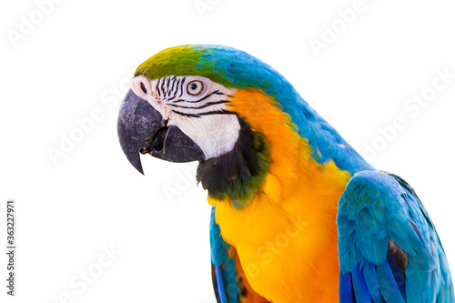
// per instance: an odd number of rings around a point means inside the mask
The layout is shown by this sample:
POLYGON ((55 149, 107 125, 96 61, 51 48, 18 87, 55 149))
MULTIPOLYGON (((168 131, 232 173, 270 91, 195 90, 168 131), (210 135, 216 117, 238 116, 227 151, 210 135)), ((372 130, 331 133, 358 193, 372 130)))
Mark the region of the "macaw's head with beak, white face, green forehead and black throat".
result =
POLYGON ((228 107, 239 88, 231 76, 247 77, 233 70, 239 55, 253 58, 227 46, 181 45, 137 67, 120 107, 117 132, 127 159, 139 172, 144 173, 140 154, 171 162, 199 161, 197 179, 212 196, 229 185, 238 183, 237 189, 231 188, 238 191, 264 177, 268 159, 263 136, 228 107))

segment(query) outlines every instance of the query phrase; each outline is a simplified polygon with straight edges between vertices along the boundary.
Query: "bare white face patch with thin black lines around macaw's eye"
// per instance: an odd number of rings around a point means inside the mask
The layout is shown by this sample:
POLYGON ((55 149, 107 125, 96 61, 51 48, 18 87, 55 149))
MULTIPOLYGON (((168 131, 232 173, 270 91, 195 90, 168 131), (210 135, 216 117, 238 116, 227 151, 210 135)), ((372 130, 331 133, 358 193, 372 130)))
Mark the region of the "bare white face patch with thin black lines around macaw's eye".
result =
POLYGON ((157 80, 136 76, 131 86, 136 96, 147 100, 167 120, 167 126, 178 126, 195 141, 206 160, 234 148, 240 125, 226 105, 235 89, 204 76, 166 76, 157 80))

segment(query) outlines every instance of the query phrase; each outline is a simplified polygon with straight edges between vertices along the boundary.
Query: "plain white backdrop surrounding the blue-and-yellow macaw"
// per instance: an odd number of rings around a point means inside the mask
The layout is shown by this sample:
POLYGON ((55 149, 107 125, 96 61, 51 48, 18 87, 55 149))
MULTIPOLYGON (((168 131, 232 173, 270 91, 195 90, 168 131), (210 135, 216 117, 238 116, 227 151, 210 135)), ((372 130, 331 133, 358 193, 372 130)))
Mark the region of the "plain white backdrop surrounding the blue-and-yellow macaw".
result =
POLYGON ((381 140, 378 128, 403 117, 405 129, 370 162, 414 187, 455 268, 455 79, 416 116, 403 107, 431 87, 437 69, 455 74, 455 4, 365 0, 350 25, 340 23, 338 11, 353 6, 65 0, 40 19, 35 1, 3 1, 0 242, 5 247, 5 200, 15 198, 18 250, 14 299, 5 295, 1 254, 0 301, 215 302, 210 207, 194 165, 143 157, 144 177, 116 137, 119 96, 134 68, 181 44, 231 45, 258 56, 362 154, 381 140), (209 6, 201 12, 200 3, 209 6), (35 28, 27 32, 22 24, 31 18, 35 28), (310 41, 323 42, 332 25, 339 34, 317 56, 310 41), (20 40, 12 41, 13 31, 20 40), (82 133, 76 120, 86 121, 82 133), (53 161, 49 150, 71 134, 79 141, 53 161), (107 262, 103 247, 111 246, 121 254, 107 262), (86 270, 96 277, 84 288, 79 275, 86 270))

